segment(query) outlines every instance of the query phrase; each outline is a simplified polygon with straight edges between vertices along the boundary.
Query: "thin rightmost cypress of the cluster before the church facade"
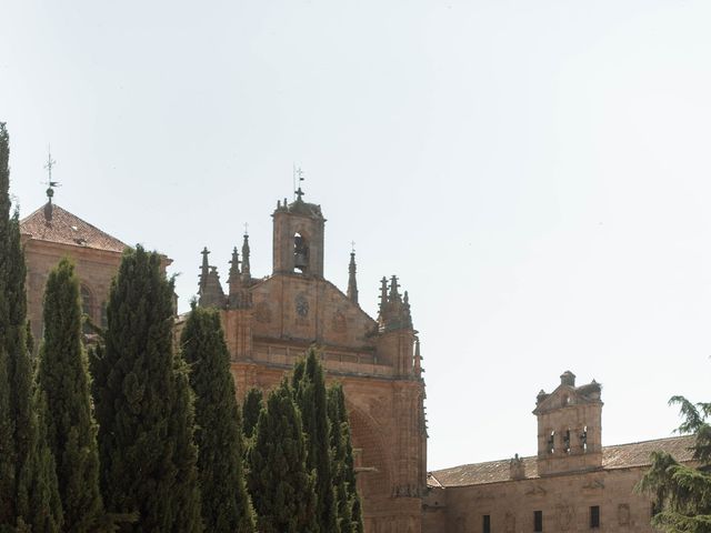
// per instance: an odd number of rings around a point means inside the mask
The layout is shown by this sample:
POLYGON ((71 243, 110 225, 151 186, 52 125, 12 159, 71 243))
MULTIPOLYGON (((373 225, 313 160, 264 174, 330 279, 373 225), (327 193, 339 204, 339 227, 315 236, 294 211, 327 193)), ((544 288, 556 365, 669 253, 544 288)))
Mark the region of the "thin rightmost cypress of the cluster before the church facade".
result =
POLYGON ((356 485, 351 430, 346 409, 346 395, 340 383, 328 391, 329 420, 331 421, 331 452, 333 457, 333 486, 341 533, 362 533, 360 495, 356 485))

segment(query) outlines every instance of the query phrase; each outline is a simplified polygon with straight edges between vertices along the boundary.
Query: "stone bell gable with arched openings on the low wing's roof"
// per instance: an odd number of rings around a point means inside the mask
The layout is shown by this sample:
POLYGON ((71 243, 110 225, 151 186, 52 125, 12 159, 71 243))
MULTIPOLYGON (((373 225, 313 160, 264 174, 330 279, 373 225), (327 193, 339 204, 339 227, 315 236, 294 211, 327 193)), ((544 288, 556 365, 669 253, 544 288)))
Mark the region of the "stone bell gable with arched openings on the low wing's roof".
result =
POLYGON ((541 391, 535 399, 539 475, 602 465, 601 385, 593 380, 575 386, 575 375, 570 371, 560 380, 553 392, 541 391))

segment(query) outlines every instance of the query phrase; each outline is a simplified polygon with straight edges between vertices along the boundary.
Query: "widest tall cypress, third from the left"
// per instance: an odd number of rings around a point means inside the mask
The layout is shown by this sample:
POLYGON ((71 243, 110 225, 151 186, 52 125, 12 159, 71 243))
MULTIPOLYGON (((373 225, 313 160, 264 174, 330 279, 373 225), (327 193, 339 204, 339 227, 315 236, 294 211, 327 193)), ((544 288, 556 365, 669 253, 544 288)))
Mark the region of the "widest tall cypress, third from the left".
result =
POLYGON ((127 251, 111 284, 106 346, 93 354, 100 483, 121 531, 202 531, 190 388, 173 353, 173 283, 158 253, 127 251))

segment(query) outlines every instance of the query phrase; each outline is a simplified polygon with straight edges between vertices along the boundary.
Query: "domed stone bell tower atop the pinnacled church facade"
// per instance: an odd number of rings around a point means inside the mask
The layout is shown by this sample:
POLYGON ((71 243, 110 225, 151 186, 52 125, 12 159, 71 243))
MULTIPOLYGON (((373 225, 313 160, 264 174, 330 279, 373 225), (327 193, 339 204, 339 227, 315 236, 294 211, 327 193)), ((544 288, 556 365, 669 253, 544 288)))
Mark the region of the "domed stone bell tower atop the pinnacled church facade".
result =
POLYGON ((297 199, 277 202, 273 212, 273 273, 323 278, 323 230, 321 205, 304 202, 301 188, 297 199))

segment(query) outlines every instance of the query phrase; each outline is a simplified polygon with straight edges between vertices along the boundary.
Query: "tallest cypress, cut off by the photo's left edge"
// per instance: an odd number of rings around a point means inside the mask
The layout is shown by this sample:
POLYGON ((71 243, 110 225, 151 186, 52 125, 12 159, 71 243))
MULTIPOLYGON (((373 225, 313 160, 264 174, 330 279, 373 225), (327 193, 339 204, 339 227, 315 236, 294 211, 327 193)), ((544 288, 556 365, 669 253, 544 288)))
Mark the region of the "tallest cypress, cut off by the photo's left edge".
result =
POLYGON ((59 531, 54 462, 46 403, 27 348, 27 295, 20 222, 10 218, 9 135, 0 123, 0 530, 59 531))

